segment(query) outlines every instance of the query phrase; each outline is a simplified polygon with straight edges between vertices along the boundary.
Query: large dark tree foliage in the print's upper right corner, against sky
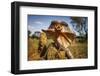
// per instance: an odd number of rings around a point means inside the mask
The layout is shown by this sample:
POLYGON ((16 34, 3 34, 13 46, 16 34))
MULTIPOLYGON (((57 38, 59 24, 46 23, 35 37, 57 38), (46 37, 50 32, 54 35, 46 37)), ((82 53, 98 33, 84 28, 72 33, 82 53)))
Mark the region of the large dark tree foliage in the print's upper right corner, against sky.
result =
POLYGON ((87 36, 88 33, 88 19, 87 17, 71 17, 73 28, 80 36, 87 36))

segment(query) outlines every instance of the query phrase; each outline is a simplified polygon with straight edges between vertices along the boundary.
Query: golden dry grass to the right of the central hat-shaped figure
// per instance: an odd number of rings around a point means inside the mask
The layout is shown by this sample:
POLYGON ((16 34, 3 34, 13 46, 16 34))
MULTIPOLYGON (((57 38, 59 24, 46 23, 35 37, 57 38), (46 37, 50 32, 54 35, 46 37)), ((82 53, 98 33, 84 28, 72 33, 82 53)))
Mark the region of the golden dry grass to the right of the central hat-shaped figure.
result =
POLYGON ((88 46, 87 42, 75 42, 69 47, 70 51, 74 55, 74 58, 87 58, 88 46))

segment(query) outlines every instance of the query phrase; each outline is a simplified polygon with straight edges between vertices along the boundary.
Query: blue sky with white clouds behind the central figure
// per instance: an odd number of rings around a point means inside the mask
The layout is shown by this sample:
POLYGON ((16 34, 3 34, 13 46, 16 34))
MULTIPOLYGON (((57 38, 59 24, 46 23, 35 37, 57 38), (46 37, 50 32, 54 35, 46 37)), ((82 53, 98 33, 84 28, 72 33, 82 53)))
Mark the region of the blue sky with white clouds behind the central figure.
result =
POLYGON ((75 32, 72 27, 70 16, 50 16, 50 15, 28 15, 28 30, 32 33, 41 31, 41 29, 48 29, 51 21, 65 21, 70 29, 75 32))

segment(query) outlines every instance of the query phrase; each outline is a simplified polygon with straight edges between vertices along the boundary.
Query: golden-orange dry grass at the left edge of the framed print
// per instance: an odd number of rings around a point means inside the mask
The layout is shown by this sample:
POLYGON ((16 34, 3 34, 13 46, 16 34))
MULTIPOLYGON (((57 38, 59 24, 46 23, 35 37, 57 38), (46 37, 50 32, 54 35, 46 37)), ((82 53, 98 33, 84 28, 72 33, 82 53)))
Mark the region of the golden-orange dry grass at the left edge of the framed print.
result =
POLYGON ((29 38, 28 40, 28 60, 40 60, 40 54, 38 53, 38 43, 37 39, 29 38))

